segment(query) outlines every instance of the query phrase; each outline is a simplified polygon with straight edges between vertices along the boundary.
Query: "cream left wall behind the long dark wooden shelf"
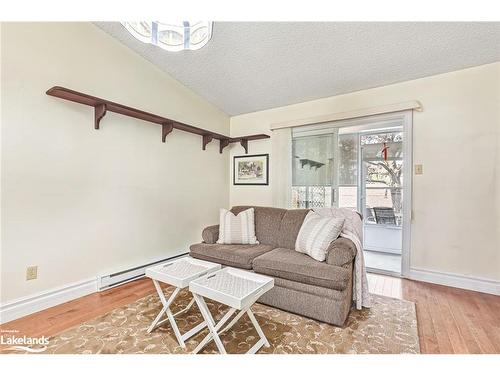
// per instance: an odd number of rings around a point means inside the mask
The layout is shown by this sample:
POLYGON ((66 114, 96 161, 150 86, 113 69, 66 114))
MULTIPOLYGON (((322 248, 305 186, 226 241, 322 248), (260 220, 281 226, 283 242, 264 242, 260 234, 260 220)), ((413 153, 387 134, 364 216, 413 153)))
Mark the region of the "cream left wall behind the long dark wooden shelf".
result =
POLYGON ((54 85, 229 133, 226 114, 90 23, 3 23, 1 301, 187 251, 228 205, 217 142, 45 95, 54 85), (38 279, 25 281, 28 265, 38 279))

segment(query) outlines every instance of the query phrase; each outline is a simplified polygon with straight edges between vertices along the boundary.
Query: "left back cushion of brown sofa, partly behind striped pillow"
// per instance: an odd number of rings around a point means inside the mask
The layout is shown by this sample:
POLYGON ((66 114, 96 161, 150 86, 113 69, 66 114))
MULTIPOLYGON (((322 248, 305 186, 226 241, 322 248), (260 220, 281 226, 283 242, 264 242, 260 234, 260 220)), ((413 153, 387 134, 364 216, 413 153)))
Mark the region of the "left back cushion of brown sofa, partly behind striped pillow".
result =
MULTIPOLYGON (((231 212, 238 215, 253 206, 235 206, 231 212)), ((255 235, 261 244, 278 246, 278 236, 281 219, 286 211, 274 207, 253 207, 255 209, 255 235)))

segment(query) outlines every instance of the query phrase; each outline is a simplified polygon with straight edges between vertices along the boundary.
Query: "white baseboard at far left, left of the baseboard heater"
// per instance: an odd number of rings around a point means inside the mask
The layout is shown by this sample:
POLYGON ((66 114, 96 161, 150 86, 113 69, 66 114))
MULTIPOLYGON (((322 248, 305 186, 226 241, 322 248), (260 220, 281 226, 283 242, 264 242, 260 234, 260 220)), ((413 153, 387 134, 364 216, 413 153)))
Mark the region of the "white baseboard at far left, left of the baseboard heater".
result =
POLYGON ((91 278, 8 301, 0 305, 0 323, 10 322, 95 292, 97 292, 97 279, 91 278))

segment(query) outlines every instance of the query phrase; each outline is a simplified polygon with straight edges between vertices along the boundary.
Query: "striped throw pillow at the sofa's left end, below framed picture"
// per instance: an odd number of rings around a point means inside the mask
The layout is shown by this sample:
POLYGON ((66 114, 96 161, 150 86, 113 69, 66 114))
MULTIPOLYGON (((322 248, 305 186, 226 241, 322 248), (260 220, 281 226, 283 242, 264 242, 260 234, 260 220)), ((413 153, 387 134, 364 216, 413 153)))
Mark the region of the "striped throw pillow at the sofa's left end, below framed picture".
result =
POLYGON ((255 237, 254 209, 249 208, 236 216, 221 208, 217 243, 257 245, 259 241, 255 237))

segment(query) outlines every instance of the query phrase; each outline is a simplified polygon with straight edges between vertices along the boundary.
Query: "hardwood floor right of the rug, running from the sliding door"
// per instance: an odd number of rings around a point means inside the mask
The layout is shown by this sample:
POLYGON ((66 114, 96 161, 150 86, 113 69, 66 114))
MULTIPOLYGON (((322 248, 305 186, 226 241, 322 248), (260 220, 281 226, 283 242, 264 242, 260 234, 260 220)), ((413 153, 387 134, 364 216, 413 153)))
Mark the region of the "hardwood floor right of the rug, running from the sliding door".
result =
POLYGON ((369 274, 370 291, 413 301, 422 353, 500 353, 500 297, 369 274))

